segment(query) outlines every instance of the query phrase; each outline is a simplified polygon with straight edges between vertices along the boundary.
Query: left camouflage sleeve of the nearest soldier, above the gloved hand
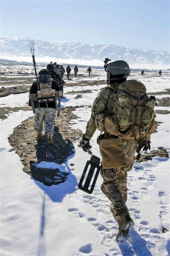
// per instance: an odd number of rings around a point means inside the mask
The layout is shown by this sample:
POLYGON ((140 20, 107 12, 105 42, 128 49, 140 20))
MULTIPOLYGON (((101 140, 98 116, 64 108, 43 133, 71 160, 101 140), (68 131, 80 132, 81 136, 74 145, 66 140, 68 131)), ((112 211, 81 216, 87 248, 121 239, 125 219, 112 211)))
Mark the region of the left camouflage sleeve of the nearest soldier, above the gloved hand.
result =
POLYGON ((98 96, 95 98, 94 103, 91 107, 91 118, 87 123, 85 138, 91 139, 96 131, 95 117, 97 114, 104 113, 108 104, 108 97, 112 93, 112 89, 103 89, 100 91, 98 96))

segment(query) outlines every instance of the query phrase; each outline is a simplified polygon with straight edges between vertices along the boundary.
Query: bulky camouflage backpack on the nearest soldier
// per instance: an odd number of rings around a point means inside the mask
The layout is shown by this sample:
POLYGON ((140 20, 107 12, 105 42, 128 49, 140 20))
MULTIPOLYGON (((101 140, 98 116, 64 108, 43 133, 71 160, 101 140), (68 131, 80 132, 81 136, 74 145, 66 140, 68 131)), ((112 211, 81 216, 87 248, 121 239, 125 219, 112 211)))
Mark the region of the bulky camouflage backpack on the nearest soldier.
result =
POLYGON ((96 116, 97 129, 128 140, 137 141, 145 136, 150 138, 156 126, 156 99, 154 96, 148 97, 145 85, 138 80, 128 80, 105 88, 113 92, 108 98, 105 113, 96 116))

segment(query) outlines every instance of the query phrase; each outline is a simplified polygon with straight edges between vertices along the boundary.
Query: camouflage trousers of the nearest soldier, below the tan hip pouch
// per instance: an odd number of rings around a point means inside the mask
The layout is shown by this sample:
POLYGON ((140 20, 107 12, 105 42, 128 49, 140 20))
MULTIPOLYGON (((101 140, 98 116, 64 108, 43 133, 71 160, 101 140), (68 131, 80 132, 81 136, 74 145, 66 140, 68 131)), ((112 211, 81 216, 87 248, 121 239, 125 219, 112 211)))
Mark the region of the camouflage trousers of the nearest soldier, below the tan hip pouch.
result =
MULTIPOLYGON (((119 221, 121 215, 119 212, 123 208, 128 214, 126 206, 127 201, 127 171, 132 169, 134 163, 134 153, 137 149, 137 143, 134 140, 122 140, 122 146, 126 158, 126 167, 117 167, 112 169, 103 169, 101 165, 101 176, 103 183, 101 190, 112 202, 110 209, 114 217, 119 221)), ((123 215, 124 213, 121 212, 123 215)))

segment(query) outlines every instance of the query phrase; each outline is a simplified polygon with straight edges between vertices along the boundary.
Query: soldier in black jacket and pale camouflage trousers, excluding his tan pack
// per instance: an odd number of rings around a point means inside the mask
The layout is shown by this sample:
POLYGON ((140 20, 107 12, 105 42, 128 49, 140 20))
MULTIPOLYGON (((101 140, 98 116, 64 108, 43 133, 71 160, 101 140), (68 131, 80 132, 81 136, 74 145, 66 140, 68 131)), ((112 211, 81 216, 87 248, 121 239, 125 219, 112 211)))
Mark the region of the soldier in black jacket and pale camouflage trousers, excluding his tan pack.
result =
MULTIPOLYGON (((49 72, 47 69, 41 69, 39 71, 38 80, 42 83, 45 83, 50 78, 49 72)), ((57 84, 55 80, 52 80, 52 89, 56 90, 56 94, 62 95, 62 91, 60 90, 60 86, 57 84)), ((31 106, 31 100, 33 100, 36 115, 35 121, 36 124, 34 126, 34 130, 37 131, 37 140, 41 140, 42 131, 43 131, 43 121, 45 133, 47 133, 47 142, 49 145, 53 145, 52 136, 54 133, 54 125, 55 125, 55 115, 56 115, 56 103, 48 102, 48 103, 39 103, 37 102, 37 81, 34 81, 30 91, 29 91, 29 106, 31 106)))

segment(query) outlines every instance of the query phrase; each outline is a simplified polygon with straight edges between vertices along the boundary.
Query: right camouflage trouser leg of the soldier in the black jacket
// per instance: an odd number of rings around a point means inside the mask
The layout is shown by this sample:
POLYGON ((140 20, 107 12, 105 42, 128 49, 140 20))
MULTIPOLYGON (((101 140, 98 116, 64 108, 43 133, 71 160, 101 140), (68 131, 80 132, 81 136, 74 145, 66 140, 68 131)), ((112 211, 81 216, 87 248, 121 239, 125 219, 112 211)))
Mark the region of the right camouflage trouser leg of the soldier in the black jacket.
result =
POLYGON ((46 109, 46 113, 44 117, 45 133, 54 133, 56 109, 55 108, 45 108, 45 109, 46 109))

